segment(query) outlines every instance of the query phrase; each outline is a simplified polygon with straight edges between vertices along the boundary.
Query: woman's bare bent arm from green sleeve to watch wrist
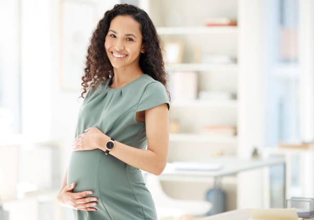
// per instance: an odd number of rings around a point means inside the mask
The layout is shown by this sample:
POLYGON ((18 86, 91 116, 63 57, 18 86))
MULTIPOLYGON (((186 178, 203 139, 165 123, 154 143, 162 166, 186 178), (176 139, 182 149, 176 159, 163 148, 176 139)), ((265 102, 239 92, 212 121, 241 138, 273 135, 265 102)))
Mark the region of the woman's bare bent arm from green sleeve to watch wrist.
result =
MULTIPOLYGON (((169 145, 169 119, 166 103, 145 110, 147 150, 114 141, 109 154, 138 169, 160 175, 167 164, 169 145)), ((100 134, 99 149, 106 151, 108 136, 100 134)))

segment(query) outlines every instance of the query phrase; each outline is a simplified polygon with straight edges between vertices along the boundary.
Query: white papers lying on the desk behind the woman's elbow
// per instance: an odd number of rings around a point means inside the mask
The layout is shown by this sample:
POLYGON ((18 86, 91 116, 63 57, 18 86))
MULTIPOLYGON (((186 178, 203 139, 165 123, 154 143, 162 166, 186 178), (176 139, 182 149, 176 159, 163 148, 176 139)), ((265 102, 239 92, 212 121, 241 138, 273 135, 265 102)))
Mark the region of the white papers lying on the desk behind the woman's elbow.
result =
POLYGON ((177 170, 215 171, 215 170, 220 170, 222 168, 221 164, 198 163, 198 162, 174 161, 171 164, 172 164, 172 167, 177 170))

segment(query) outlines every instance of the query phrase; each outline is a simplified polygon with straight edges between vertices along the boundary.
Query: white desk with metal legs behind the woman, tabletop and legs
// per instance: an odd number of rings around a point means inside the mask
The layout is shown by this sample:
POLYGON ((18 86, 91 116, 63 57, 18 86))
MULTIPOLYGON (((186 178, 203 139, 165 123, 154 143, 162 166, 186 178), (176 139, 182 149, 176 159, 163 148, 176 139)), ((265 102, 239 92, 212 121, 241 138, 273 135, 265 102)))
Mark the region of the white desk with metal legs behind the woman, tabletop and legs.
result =
MULTIPOLYGON (((192 162, 192 161, 191 161, 192 162)), ((193 161, 195 162, 195 161, 193 161)), ((210 163, 210 164, 221 164, 222 168, 220 170, 214 171, 198 171, 198 170, 176 170, 173 169, 171 164, 167 163, 166 168, 163 173, 159 175, 159 179, 162 181, 180 181, 186 177, 208 177, 208 181, 214 180, 214 189, 221 188, 222 177, 228 175, 234 175, 242 171, 252 170, 263 167, 271 167, 273 165, 284 166, 284 200, 285 188, 286 188, 286 162, 283 158, 271 158, 271 159, 242 159, 238 157, 220 157, 220 158, 208 158, 207 161, 198 161, 200 163, 210 163)), ((215 196, 214 196, 215 197, 215 196)), ((217 204, 214 202, 213 208, 217 204)), ((215 210, 215 209, 214 209, 215 210)))

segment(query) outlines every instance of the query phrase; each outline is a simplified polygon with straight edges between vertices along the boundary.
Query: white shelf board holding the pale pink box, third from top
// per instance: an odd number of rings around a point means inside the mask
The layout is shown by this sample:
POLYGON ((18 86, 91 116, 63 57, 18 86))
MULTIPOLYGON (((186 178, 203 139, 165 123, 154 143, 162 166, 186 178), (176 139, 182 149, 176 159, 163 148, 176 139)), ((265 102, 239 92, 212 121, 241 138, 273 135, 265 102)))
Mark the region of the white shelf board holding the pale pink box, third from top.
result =
POLYGON ((184 100, 184 101, 173 101, 170 104, 172 107, 229 107, 236 108, 238 102, 236 99, 226 99, 226 100, 184 100))

